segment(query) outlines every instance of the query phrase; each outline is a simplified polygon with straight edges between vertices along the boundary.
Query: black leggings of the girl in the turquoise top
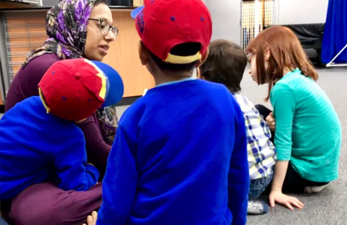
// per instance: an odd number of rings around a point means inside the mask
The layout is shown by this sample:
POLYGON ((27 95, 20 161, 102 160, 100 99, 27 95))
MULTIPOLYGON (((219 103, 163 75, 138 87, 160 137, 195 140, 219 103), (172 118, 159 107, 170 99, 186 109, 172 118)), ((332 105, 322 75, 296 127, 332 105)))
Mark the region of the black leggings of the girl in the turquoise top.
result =
MULTIPOLYGON (((255 108, 259 111, 260 115, 266 119, 267 116, 272 112, 270 109, 266 108, 263 105, 256 105, 255 108)), ((273 143, 274 132, 271 131, 271 141, 273 143)), ((287 173, 285 180, 283 182, 282 192, 283 193, 304 193, 306 186, 323 186, 329 182, 313 182, 302 178, 291 166, 289 161, 287 173)), ((265 194, 270 193, 271 184, 268 185, 268 188, 264 191, 265 194)))

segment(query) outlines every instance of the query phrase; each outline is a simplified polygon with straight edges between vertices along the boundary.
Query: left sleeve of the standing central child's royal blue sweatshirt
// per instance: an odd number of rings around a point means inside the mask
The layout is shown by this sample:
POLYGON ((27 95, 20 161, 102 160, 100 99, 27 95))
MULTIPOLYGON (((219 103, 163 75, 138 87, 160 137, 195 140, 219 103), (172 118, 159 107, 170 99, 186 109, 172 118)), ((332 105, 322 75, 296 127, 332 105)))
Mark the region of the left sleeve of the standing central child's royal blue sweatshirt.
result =
POLYGON ((96 225, 124 225, 130 216, 138 181, 134 145, 120 125, 107 163, 96 225))

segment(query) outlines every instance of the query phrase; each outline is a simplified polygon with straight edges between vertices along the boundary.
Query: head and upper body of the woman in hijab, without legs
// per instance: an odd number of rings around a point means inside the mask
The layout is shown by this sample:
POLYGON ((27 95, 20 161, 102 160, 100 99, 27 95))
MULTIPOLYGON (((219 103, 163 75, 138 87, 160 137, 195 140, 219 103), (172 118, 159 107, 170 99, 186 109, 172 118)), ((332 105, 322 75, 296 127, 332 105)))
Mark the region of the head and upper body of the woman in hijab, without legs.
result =
MULTIPOLYGON (((39 95, 43 74, 56 61, 87 58, 102 61, 114 41, 118 29, 113 27, 111 10, 105 0, 64 0, 46 15, 49 39, 44 45, 29 52, 8 90, 5 111, 16 103, 39 95)), ((79 127, 86 139, 90 163, 100 171, 102 180, 107 158, 115 137, 118 119, 115 107, 99 109, 79 127)))

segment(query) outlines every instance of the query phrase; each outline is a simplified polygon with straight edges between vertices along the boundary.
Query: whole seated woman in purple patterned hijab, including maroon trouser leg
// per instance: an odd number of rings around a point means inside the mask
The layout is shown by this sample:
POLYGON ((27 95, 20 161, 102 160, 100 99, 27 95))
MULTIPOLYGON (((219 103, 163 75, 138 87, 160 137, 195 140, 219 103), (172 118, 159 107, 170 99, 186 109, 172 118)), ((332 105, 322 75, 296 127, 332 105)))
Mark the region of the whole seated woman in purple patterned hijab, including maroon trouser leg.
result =
MULTIPOLYGON (((37 85, 53 63, 81 57, 101 61, 118 33, 112 24, 112 14, 105 0, 64 0, 49 10, 46 30, 50 38, 41 48, 29 53, 10 86, 6 110, 39 95, 37 85)), ((86 139, 88 162, 101 174, 116 125, 114 107, 100 109, 79 125, 86 139)), ((52 183, 40 183, 1 202, 1 212, 14 225, 81 225, 100 207, 101 201, 101 183, 88 191, 64 191, 52 183)))

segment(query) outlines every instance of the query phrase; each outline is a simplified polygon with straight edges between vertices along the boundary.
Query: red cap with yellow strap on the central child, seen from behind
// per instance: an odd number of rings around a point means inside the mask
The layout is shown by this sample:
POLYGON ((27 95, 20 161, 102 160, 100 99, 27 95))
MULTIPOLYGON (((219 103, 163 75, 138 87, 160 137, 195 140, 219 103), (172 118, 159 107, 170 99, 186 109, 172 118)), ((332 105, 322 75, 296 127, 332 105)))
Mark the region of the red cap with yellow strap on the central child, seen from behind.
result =
POLYGON ((158 58, 172 64, 188 64, 200 60, 212 36, 212 19, 202 0, 144 0, 132 17, 144 45, 158 58), (178 44, 201 43, 193 56, 170 54, 178 44))

